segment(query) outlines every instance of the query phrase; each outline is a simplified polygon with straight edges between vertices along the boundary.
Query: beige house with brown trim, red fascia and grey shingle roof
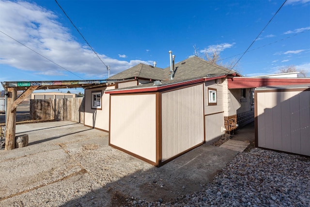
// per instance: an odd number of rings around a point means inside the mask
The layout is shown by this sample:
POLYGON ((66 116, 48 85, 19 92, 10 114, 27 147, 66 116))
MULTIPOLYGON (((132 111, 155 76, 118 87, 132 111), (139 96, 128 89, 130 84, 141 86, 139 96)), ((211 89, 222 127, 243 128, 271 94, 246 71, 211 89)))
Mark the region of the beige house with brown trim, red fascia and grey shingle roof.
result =
POLYGON ((196 56, 175 64, 172 80, 170 70, 138 64, 105 87, 85 88, 85 125, 108 131, 110 146, 161 166, 254 121, 254 89, 288 82, 249 80, 196 56))

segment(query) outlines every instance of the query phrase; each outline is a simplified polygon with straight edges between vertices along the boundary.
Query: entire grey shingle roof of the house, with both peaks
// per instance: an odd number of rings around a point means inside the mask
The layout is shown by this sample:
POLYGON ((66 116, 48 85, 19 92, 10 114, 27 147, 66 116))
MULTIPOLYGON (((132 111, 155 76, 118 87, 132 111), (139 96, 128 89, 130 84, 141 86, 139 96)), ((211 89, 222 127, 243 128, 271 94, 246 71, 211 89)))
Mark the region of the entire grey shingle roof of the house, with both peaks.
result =
MULTIPOLYGON (((234 73, 234 71, 230 71, 217 64, 209 63, 197 56, 187 58, 175 64, 174 68, 173 80, 191 80, 234 73)), ((170 80, 170 67, 161 69, 159 67, 153 67, 152 65, 138 64, 110 77, 108 80, 125 80, 135 77, 152 80, 170 80)))

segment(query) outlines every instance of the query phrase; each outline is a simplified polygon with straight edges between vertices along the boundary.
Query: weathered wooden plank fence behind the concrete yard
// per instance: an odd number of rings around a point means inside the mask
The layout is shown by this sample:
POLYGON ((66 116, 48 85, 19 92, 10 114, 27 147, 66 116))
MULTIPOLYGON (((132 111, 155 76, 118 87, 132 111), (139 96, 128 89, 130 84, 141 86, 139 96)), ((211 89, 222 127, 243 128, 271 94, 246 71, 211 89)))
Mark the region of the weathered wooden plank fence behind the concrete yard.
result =
POLYGON ((84 124, 84 97, 60 99, 31 99, 31 120, 50 119, 84 124))

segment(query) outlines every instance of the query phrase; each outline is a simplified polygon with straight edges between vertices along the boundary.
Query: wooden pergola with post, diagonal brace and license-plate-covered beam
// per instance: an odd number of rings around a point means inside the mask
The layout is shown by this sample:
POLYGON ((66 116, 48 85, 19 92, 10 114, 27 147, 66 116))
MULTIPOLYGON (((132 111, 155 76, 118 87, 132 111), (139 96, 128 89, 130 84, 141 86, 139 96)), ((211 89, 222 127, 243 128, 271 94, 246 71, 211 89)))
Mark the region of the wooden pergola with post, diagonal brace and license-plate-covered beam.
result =
POLYGON ((15 148, 16 107, 33 91, 40 89, 92 88, 106 86, 107 80, 57 80, 1 82, 5 90, 5 150, 15 148), (17 97, 17 91, 24 91, 17 97))

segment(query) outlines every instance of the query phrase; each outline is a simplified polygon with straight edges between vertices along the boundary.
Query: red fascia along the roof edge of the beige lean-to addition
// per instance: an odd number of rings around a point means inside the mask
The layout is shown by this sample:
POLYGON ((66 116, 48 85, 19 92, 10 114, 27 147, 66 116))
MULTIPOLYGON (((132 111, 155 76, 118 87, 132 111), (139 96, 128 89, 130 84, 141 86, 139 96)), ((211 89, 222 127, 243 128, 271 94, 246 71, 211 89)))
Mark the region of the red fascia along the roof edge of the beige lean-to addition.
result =
POLYGON ((132 88, 132 89, 124 89, 124 90, 114 90, 114 91, 105 91, 106 94, 126 94, 126 93, 143 93, 143 92, 158 92, 164 89, 174 88, 174 87, 182 87, 190 84, 195 84, 199 82, 204 82, 208 80, 216 80, 220 78, 225 78, 224 76, 218 76, 218 77, 211 77, 211 78, 202 78, 202 79, 196 79, 196 80, 189 80, 184 82, 177 82, 177 83, 171 83, 169 85, 163 85, 163 86, 154 86, 154 87, 147 87, 147 88, 132 88))

